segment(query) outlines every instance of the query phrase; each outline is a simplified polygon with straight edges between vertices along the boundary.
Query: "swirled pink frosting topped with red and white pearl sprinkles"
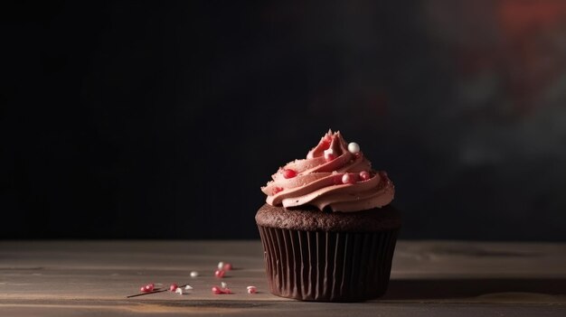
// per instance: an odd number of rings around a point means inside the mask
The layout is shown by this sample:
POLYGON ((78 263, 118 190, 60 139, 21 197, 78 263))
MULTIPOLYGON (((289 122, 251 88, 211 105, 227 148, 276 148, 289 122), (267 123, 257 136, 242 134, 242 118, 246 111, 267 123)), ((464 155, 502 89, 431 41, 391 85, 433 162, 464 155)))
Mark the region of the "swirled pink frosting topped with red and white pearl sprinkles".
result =
POLYGON ((395 188, 387 173, 373 170, 372 163, 353 147, 351 153, 340 132, 329 130, 306 159, 289 162, 271 175, 273 180, 261 187, 268 195, 267 203, 344 212, 389 204, 395 188))

